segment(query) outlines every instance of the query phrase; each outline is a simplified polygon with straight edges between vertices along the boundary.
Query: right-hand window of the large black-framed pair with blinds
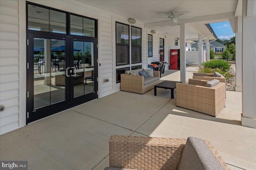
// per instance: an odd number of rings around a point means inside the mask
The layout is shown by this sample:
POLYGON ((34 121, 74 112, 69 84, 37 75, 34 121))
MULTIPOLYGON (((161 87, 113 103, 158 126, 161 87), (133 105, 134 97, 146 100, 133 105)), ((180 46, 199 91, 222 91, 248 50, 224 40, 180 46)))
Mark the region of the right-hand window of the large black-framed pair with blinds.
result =
POLYGON ((141 28, 131 26, 132 64, 141 63, 141 28))

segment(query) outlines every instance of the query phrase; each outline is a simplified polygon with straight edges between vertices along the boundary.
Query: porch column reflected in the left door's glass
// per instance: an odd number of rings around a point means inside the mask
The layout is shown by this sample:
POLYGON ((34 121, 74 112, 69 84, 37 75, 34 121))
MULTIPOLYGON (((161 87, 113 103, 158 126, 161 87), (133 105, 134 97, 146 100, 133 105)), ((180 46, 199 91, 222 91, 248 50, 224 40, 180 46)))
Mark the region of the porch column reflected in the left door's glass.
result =
POLYGON ((44 39, 44 84, 50 85, 51 83, 51 40, 44 39))

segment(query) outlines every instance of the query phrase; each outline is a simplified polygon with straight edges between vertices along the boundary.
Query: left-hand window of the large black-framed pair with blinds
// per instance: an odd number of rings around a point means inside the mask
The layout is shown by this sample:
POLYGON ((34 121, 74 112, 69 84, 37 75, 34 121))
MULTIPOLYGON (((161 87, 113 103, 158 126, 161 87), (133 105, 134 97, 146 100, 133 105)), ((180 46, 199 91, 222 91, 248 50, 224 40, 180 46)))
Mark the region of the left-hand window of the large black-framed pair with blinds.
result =
POLYGON ((130 63, 129 37, 129 25, 116 22, 116 66, 130 63))

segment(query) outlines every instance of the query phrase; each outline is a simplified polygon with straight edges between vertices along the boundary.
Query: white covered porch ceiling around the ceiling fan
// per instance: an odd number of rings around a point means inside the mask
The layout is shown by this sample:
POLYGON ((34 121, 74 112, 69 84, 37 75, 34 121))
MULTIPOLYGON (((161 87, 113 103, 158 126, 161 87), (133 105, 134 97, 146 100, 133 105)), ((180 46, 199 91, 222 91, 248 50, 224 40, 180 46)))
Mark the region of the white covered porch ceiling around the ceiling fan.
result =
POLYGON ((180 37, 180 24, 187 23, 186 39, 198 40, 198 34, 204 39, 215 39, 214 35, 205 24, 213 22, 229 21, 234 31, 232 20, 241 12, 241 0, 76 0, 78 2, 99 8, 101 10, 122 16, 133 18, 137 22, 145 24, 145 28, 155 30, 159 34, 180 37), (177 23, 165 18, 182 13, 177 23), (185 17, 193 17, 185 19, 185 17), (210 36, 207 36, 210 35, 210 36))

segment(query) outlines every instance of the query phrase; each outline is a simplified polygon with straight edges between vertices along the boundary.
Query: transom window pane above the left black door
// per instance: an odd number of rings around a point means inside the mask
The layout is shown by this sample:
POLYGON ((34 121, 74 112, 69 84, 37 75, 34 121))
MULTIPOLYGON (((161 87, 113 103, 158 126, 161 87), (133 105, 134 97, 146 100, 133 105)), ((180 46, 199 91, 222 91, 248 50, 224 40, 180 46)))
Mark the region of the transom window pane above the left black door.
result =
POLYGON ((67 34, 64 12, 28 4, 28 30, 67 34))

